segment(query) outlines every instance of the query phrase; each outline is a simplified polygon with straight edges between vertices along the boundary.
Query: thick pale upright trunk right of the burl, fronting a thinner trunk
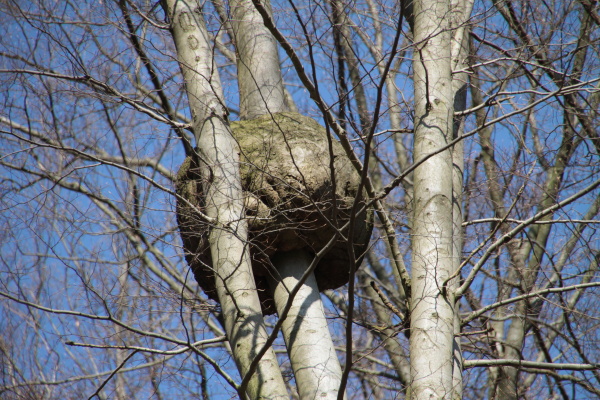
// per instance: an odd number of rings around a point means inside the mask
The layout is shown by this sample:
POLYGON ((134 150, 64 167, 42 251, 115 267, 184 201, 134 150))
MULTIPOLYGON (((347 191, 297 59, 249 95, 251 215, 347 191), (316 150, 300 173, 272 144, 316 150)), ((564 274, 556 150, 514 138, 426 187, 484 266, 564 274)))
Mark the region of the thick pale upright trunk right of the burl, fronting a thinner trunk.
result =
MULTIPOLYGON (((415 147, 419 159, 453 134, 451 32, 448 1, 415 1, 413 36, 415 147)), ((443 293, 453 273, 452 152, 414 172, 411 296, 411 398, 452 396, 454 306, 443 293)))

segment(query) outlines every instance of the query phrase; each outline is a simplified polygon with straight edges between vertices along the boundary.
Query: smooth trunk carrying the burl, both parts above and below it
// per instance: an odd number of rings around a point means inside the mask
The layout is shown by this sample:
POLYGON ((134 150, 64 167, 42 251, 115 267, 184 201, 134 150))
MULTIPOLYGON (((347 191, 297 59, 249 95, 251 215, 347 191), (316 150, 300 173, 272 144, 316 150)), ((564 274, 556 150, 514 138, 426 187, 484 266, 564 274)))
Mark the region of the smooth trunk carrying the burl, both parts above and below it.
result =
MULTIPOLYGON (((270 3, 262 2, 262 6, 270 14, 270 3)), ((234 0, 231 8, 238 51, 240 118, 252 119, 286 111, 288 106, 275 39, 252 1, 234 0)), ((276 255, 272 260, 276 271, 271 289, 280 316, 287 303, 292 302, 283 321, 283 336, 300 398, 337 399, 342 371, 314 274, 302 283, 293 299, 287 295, 299 284, 311 260, 306 251, 276 255), (308 346, 311 343, 313 346, 308 346)))

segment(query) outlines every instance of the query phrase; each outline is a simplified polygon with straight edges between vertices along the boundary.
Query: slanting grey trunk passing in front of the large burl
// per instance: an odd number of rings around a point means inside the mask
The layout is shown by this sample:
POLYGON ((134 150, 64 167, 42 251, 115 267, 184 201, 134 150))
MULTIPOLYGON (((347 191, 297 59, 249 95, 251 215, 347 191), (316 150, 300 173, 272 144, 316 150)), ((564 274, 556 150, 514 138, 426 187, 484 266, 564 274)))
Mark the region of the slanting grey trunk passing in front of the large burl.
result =
MULTIPOLYGON (((205 22, 197 3, 168 0, 177 56, 186 82, 199 157, 207 178, 206 214, 216 222, 209 233, 217 293, 227 337, 243 376, 268 334, 256 292, 246 238, 239 148, 227 110, 205 22), (208 179, 210 177, 210 179, 208 179)), ((251 399, 288 398, 272 349, 259 362, 246 387, 251 399)), ((240 393, 240 396, 245 396, 240 393)))

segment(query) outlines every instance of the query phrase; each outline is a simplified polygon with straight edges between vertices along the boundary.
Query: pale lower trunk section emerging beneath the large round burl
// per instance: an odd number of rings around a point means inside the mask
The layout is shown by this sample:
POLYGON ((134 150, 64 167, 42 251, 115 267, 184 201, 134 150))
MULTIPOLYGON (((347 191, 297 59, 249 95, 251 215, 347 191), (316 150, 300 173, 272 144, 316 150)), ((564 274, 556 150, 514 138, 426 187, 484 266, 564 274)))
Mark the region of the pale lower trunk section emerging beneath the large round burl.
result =
MULTIPOLYGON (((311 261, 312 257, 306 251, 279 253, 273 258, 279 277, 273 279, 272 287, 280 316, 284 313, 290 292, 311 261)), ((333 347, 314 274, 308 277, 292 299, 282 332, 300 399, 336 400, 342 369, 333 347)))

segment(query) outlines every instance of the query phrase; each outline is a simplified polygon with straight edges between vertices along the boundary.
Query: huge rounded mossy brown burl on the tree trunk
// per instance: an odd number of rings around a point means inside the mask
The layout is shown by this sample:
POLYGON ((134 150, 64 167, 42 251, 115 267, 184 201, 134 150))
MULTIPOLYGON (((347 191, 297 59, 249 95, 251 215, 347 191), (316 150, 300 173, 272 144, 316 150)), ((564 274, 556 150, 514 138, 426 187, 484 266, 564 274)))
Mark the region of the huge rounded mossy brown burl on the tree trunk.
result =
MULTIPOLYGON (((256 286, 263 312, 272 314, 275 307, 268 276, 275 272, 270 257, 299 249, 311 254, 322 250, 336 229, 349 221, 360 176, 341 145, 331 140, 334 183, 327 133, 303 115, 265 115, 233 122, 231 129, 241 149, 240 172, 256 286)), ((179 170, 177 192, 202 209, 203 179, 190 157, 179 170)), ((315 269, 320 291, 347 283, 351 265, 362 259, 373 215, 363 207, 364 196, 361 199, 357 210, 362 211, 356 216, 352 237, 348 239, 348 232, 342 232, 315 269), (353 260, 349 240, 354 246, 353 260)), ((196 280, 210 298, 217 300, 208 243, 211 227, 183 201, 177 202, 177 218, 186 259, 196 280)))

